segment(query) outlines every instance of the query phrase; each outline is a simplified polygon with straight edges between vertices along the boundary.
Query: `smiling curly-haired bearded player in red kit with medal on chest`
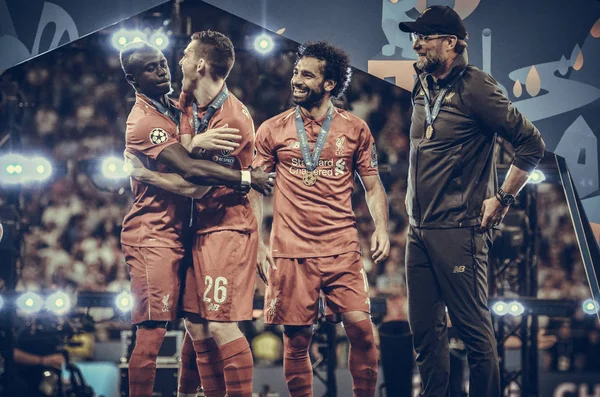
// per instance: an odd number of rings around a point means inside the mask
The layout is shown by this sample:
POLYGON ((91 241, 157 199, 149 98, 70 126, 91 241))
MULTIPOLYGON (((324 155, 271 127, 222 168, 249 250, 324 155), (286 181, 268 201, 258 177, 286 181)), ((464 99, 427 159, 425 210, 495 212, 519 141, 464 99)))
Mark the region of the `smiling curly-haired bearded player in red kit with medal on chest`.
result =
MULTIPOLYGON (((291 79, 297 106, 264 122, 256 137, 254 165, 277 173, 271 252, 261 243, 258 256, 268 277, 265 322, 284 325, 284 373, 293 397, 312 396, 308 348, 321 292, 329 318, 341 315, 350 341, 354 395, 375 394, 369 284, 351 204, 355 173, 375 223, 375 263, 389 254, 388 209, 369 127, 331 103, 350 77, 341 49, 327 42, 300 46, 291 79)), ((255 211, 262 220, 262 207, 255 211)))

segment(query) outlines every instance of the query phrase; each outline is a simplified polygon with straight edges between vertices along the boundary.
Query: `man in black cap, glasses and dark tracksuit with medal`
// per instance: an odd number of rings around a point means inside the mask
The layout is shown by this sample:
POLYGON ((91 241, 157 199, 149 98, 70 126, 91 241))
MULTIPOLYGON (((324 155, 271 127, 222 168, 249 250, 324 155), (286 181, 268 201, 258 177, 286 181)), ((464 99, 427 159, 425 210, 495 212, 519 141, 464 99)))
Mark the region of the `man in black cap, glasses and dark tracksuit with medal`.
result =
POLYGON ((544 154, 539 131, 496 81, 468 65, 466 29, 454 10, 427 8, 410 32, 413 89, 406 247, 409 321, 424 395, 446 397, 450 372, 446 310, 464 341, 472 397, 501 396, 498 354, 487 307, 490 229, 544 154), (496 134, 515 159, 501 189, 496 134))

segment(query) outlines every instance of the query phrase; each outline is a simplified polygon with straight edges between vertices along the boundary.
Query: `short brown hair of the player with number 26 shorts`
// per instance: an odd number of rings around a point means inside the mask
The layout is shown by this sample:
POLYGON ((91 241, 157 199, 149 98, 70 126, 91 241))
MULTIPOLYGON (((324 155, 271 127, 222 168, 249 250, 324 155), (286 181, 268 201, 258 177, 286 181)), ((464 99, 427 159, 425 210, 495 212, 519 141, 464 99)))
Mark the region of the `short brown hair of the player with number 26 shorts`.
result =
POLYGON ((213 79, 226 79, 235 63, 235 51, 229 37, 214 30, 203 30, 192 35, 192 41, 200 43, 200 56, 211 66, 213 79))

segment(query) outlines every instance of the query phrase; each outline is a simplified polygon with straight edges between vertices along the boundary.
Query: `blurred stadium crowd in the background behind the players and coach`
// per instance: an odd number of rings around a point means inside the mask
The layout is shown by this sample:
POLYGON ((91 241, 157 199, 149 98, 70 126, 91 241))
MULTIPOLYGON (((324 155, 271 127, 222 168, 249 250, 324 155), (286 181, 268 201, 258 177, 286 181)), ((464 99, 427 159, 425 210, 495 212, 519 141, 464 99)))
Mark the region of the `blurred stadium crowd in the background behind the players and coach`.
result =
MULTIPOLYGON (((258 127, 291 105, 289 79, 295 60, 294 45, 287 43, 272 56, 258 57, 245 44, 250 37, 249 29, 255 28, 236 21, 233 17, 219 18, 194 30, 212 28, 231 35, 238 51, 227 80, 228 87, 248 106, 258 127)), ((120 292, 128 289, 119 235, 121 221, 131 205, 131 192, 126 183, 114 191, 98 189, 88 166, 92 159, 107 154, 120 155, 124 149, 125 121, 135 100, 133 89, 123 76, 118 51, 108 44, 109 40, 106 34, 91 35, 0 76, 2 84, 16 84, 19 95, 14 109, 7 109, 6 103, 0 107, 3 115, 0 130, 17 129, 23 150, 46 155, 53 159, 58 170, 51 183, 27 187, 21 192, 24 244, 17 287, 21 291, 120 292), (11 117, 5 117, 8 112, 11 117)), ((183 37, 180 41, 183 46, 165 51, 175 94, 179 92, 181 81, 176 62, 187 39, 183 37)), ((404 251, 408 218, 404 197, 410 94, 355 70, 347 95, 338 106, 366 120, 376 139, 381 178, 390 208, 391 237, 390 256, 379 265, 373 264, 369 257, 373 224, 358 182, 353 205, 371 293, 387 300, 383 321, 405 321, 404 251)), ((2 205, 8 196, 7 191, 0 193, 2 205)), ((267 198, 265 204, 264 227, 268 231, 271 199, 267 198)), ((538 297, 588 298, 577 242, 559 186, 539 186, 538 219, 541 231, 538 297)), ((257 288, 261 294, 260 283, 257 288)), ((576 322, 576 319, 561 322, 556 328, 557 334, 579 332, 576 322)), ((552 327, 551 322, 547 326, 552 327)), ((586 326, 585 329, 590 328, 586 326)), ((597 349, 598 329, 585 336, 590 346, 597 349)), ((570 338, 571 345, 563 343, 563 339, 559 338, 553 347, 559 352, 553 356, 552 364, 548 364, 556 370, 566 368, 564 351, 579 349, 575 347, 578 342, 574 338, 570 338)), ((600 357, 600 353, 595 357, 600 357)), ((579 362, 576 353, 569 356, 569 360, 575 366, 579 362)), ((598 360, 594 362, 593 365, 598 366, 598 360)))

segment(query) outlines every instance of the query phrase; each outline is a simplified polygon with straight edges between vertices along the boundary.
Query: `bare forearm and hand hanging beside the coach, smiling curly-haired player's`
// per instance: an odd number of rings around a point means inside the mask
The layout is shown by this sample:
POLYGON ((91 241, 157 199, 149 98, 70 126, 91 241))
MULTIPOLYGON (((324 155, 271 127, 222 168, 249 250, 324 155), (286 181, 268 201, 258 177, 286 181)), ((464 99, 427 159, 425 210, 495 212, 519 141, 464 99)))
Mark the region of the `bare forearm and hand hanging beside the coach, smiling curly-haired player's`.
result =
POLYGON ((365 198, 375 224, 375 232, 371 237, 371 252, 375 263, 385 260, 390 253, 390 238, 388 235, 388 205, 385 189, 379 175, 361 177, 365 188, 365 198))

